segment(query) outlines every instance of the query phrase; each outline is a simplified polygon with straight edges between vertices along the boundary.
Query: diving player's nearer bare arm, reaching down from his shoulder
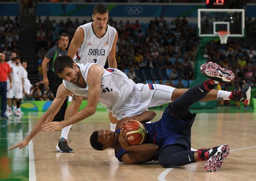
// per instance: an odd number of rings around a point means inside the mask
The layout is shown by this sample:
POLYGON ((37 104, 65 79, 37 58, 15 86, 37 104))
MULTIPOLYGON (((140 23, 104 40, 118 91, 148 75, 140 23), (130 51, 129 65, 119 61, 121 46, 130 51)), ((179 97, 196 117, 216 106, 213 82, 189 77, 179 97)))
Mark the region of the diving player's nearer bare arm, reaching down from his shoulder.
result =
POLYGON ((81 120, 92 116, 97 108, 98 100, 101 92, 101 75, 104 71, 99 65, 92 65, 88 71, 87 82, 89 85, 87 106, 76 113, 74 116, 69 117, 61 122, 51 122, 42 125, 43 129, 46 131, 56 131, 65 128, 68 125, 78 123, 81 120))

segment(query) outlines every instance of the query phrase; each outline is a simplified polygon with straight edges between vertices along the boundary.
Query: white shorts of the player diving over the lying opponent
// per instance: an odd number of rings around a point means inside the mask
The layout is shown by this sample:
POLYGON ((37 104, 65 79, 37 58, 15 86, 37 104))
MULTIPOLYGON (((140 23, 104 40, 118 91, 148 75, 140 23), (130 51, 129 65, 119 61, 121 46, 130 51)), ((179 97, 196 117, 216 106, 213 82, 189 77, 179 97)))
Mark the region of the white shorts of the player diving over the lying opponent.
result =
POLYGON ((117 119, 135 116, 148 108, 171 102, 174 87, 162 84, 136 84, 123 106, 112 114, 117 119))

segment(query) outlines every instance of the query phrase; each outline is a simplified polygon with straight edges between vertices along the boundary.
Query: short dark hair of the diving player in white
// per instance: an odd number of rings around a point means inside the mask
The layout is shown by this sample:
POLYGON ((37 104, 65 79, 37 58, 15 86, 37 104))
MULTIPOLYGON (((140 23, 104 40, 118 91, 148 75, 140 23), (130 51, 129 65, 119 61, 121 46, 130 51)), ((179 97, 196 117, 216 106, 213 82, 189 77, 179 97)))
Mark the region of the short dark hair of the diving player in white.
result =
POLYGON ((54 61, 54 72, 58 74, 61 73, 66 67, 73 68, 73 63, 73 59, 68 55, 57 57, 54 61))

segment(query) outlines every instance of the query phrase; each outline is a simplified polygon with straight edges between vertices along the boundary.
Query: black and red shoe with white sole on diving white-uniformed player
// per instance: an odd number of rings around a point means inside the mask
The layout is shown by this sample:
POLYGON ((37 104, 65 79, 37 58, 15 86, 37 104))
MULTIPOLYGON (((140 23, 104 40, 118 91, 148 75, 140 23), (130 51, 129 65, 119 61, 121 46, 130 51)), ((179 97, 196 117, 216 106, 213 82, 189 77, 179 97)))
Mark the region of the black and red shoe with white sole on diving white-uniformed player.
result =
POLYGON ((245 105, 249 105, 251 98, 251 87, 246 86, 243 87, 242 91, 231 91, 229 99, 232 101, 239 101, 244 103, 245 105))

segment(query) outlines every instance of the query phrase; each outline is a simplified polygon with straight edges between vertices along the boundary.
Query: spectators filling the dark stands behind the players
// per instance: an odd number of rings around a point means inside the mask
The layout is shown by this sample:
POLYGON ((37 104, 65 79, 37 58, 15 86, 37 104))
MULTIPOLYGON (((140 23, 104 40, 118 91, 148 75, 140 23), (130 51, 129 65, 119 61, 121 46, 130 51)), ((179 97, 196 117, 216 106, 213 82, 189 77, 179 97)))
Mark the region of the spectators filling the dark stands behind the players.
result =
MULTIPOLYGON (((89 21, 75 19, 56 22, 47 17, 37 19, 38 61, 41 64, 47 50, 58 41, 58 36, 66 32, 72 39, 76 28, 89 21)), ((118 68, 136 83, 157 83, 188 87, 194 79, 194 64, 200 39, 197 26, 189 23, 186 17, 176 17, 166 22, 162 17, 148 23, 115 21, 108 24, 118 31, 116 60, 118 68)), ((246 21, 247 34, 256 29, 256 21, 246 21)), ((5 52, 7 60, 12 51, 19 54, 19 19, 0 17, 0 52, 5 52)), ((224 90, 241 89, 244 85, 256 86, 256 51, 246 47, 244 39, 229 39, 221 45, 212 41, 206 47, 206 56, 224 67, 232 67, 236 81, 222 87, 224 90)), ((29 63, 28 63, 29 65, 29 63)), ((39 66, 40 81, 42 80, 39 66)), ((38 83, 33 86, 25 100, 52 100, 53 95, 47 87, 38 83)))

